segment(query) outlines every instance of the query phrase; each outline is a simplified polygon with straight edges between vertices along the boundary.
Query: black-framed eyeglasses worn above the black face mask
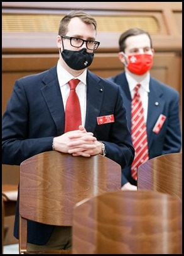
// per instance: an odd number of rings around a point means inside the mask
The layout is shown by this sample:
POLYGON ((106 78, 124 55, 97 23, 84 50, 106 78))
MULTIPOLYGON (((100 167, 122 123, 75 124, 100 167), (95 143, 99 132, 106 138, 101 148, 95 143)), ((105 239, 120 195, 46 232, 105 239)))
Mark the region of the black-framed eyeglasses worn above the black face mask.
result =
POLYGON ((77 37, 67 37, 67 35, 61 35, 62 38, 66 38, 70 40, 70 45, 73 47, 81 47, 84 43, 86 44, 87 49, 89 50, 97 50, 100 45, 100 42, 92 41, 92 40, 84 40, 77 37))

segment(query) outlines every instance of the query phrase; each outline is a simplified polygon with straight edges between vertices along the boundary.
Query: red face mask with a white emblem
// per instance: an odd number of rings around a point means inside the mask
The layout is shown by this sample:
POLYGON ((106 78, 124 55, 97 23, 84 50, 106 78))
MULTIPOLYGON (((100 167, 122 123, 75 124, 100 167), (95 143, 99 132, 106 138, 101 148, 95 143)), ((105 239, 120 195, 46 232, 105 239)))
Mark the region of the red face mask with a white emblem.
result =
POLYGON ((127 64, 127 69, 131 73, 142 75, 145 74, 153 66, 153 55, 152 54, 136 54, 129 55, 129 64, 127 64))

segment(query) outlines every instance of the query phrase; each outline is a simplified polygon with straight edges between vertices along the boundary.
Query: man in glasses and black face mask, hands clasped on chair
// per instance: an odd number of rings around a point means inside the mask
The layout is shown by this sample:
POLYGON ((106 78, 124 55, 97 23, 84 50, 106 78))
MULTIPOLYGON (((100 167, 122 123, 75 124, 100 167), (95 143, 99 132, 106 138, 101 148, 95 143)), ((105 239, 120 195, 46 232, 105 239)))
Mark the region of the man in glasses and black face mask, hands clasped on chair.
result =
MULTIPOLYGON (((100 44, 95 40, 96 27, 96 21, 87 13, 68 13, 58 30, 57 65, 15 82, 3 115, 3 164, 20 165, 35 154, 57 150, 76 157, 102 154, 122 168, 131 165, 134 148, 120 88, 87 69, 100 44), (68 81, 73 78, 80 79, 76 91, 82 124, 65 132, 68 81)), ((16 238, 18 206, 19 199, 14 224, 16 238)), ((71 230, 30 221, 28 250, 70 249, 71 230)))

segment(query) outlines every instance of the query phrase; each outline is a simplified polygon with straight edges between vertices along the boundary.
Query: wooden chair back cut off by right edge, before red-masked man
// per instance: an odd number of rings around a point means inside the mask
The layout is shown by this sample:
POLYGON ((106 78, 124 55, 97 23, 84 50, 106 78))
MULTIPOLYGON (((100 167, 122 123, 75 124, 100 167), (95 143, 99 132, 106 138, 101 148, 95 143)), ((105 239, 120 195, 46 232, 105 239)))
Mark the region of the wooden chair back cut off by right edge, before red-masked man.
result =
POLYGON ((138 190, 175 195, 182 200, 182 153, 165 154, 138 167, 138 190))

